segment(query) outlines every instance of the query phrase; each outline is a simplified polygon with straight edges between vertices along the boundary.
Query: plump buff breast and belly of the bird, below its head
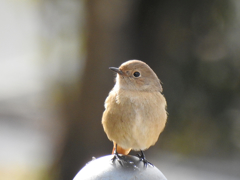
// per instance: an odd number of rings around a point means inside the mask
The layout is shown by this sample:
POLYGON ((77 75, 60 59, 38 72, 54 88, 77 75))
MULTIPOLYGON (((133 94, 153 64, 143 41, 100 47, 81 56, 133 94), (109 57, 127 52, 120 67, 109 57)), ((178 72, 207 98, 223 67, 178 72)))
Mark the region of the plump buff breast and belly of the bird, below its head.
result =
POLYGON ((105 106, 103 121, 114 129, 108 137, 122 147, 146 149, 165 126, 166 101, 160 92, 112 91, 105 106))

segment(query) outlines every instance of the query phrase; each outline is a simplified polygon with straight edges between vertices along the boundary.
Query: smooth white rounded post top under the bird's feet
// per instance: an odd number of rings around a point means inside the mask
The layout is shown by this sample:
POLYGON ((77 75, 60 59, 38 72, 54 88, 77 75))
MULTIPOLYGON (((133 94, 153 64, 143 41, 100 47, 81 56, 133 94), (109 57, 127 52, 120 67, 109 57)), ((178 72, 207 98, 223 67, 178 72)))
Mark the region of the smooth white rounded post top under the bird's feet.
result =
POLYGON ((163 173, 150 164, 147 167, 136 156, 121 155, 121 162, 112 161, 113 155, 103 156, 88 162, 73 180, 167 180, 163 173), (121 165, 122 164, 122 165, 121 165))

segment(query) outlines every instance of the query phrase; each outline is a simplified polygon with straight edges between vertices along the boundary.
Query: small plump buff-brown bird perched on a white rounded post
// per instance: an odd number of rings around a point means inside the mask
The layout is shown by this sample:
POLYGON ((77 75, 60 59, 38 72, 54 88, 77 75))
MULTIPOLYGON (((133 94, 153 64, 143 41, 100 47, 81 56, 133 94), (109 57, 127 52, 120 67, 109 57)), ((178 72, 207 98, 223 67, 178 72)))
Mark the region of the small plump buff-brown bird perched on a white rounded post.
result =
MULTIPOLYGON (((105 100, 102 124, 109 140, 113 141, 114 158, 127 155, 131 149, 141 151, 139 158, 149 163, 143 150, 154 145, 166 121, 166 100, 160 80, 144 62, 130 60, 119 68, 116 84, 105 100)), ((121 163, 121 162, 120 162, 121 163)))

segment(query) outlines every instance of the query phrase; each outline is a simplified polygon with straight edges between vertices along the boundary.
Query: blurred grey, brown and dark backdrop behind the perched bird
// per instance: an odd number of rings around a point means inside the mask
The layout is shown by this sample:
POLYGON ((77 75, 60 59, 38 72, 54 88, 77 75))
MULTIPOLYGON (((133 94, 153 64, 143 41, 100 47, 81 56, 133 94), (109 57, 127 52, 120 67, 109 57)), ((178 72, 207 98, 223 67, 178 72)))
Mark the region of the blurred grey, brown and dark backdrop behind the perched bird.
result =
POLYGON ((169 180, 239 180, 240 1, 0 0, 0 22, 1 179, 68 180, 110 154, 108 67, 140 59, 169 113, 147 159, 169 180))

